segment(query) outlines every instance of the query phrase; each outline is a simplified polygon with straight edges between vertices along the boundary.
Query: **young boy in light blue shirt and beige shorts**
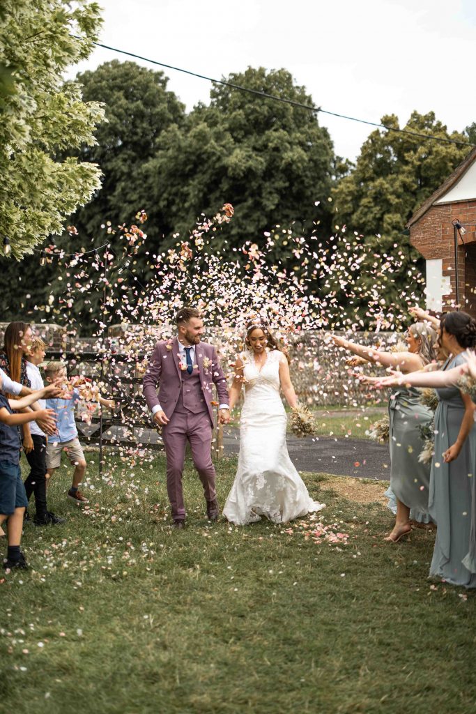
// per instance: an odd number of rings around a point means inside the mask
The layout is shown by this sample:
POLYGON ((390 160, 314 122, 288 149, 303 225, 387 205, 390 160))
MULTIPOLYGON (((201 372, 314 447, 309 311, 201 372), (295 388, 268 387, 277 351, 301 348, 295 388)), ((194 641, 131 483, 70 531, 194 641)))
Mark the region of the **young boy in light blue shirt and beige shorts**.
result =
MULTIPOLYGON (((46 381, 56 386, 64 386, 67 381, 66 364, 64 362, 49 362, 45 368, 46 381)), ((57 433, 49 439, 46 446, 46 478, 51 478, 56 468, 61 466, 61 451, 66 450, 69 461, 74 466, 73 485, 68 491, 68 498, 75 501, 78 506, 89 503, 88 498, 79 491, 79 486, 86 472, 86 460, 84 458, 81 443, 79 443, 78 430, 74 421, 74 407, 81 399, 78 389, 74 389, 71 399, 48 399, 46 406, 54 410, 58 421, 57 433)), ((103 399, 98 396, 98 402, 109 408, 114 407, 114 402, 110 399, 103 399)))

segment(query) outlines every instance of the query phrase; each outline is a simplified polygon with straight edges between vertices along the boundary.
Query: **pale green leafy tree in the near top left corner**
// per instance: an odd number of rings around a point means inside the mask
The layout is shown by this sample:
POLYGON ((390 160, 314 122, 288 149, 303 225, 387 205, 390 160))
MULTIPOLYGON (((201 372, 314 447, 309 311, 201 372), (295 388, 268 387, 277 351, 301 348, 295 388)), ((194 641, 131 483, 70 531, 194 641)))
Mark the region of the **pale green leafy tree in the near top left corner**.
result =
POLYGON ((0 234, 16 258, 61 233, 65 216, 101 185, 94 164, 54 159, 95 143, 103 110, 62 74, 88 57, 100 24, 98 4, 87 0, 2 1, 0 234))

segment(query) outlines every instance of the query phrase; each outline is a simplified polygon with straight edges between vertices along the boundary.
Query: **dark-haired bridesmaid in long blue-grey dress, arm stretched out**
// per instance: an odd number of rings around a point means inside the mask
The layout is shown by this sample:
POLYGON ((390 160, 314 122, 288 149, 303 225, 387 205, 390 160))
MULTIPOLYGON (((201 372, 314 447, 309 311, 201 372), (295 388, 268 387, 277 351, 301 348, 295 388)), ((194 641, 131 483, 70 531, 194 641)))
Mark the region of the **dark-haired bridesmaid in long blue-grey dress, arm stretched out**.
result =
MULTIPOLYGON (((433 386, 440 404, 435 412, 435 456, 430 477, 430 513, 437 523, 430 575, 453 585, 476 588, 476 428, 475 405, 456 382, 476 358, 476 322, 464 312, 442 317, 440 341, 452 353, 443 371, 405 376, 407 386, 433 386)), ((385 378, 382 386, 400 383, 385 378)), ((379 382, 380 384, 380 382, 379 382)))

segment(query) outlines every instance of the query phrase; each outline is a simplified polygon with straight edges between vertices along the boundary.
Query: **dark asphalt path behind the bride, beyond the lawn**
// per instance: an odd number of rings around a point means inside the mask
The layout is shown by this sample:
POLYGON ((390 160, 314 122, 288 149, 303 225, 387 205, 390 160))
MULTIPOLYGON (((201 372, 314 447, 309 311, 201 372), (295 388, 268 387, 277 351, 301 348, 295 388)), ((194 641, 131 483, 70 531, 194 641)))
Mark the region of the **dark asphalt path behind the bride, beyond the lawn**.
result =
MULTIPOLYGON (((390 480, 390 456, 386 445, 333 436, 303 439, 289 436, 287 441, 290 458, 298 471, 390 480)), ((225 429, 223 446, 226 454, 238 453, 238 429, 225 429)))

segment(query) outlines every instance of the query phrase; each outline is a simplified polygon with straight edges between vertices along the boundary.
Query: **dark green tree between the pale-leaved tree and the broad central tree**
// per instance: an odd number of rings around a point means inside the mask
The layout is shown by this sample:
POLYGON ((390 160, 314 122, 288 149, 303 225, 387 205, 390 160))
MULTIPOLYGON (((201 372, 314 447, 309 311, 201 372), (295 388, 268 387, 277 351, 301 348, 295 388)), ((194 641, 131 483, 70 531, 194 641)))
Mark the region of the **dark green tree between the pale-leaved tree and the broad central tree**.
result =
POLYGON ((135 62, 106 62, 76 76, 87 101, 106 107, 107 122, 98 127, 95 146, 81 147, 81 159, 98 164, 103 186, 93 200, 74 216, 82 238, 94 237, 101 223, 131 220, 143 208, 141 186, 136 187, 141 166, 158 149, 161 133, 181 126, 185 108, 167 91, 163 72, 135 62))

